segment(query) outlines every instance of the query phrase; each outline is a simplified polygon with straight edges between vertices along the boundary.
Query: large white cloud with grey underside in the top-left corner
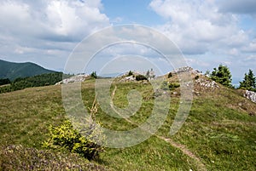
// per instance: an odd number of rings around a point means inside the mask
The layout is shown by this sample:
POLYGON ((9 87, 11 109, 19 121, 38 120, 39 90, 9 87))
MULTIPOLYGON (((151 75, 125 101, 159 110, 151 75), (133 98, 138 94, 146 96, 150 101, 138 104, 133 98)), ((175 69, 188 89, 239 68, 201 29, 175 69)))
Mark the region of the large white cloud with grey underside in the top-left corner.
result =
POLYGON ((109 25, 100 1, 3 1, 0 22, 5 31, 56 41, 77 41, 109 25), (41 3, 38 5, 38 3, 41 3))

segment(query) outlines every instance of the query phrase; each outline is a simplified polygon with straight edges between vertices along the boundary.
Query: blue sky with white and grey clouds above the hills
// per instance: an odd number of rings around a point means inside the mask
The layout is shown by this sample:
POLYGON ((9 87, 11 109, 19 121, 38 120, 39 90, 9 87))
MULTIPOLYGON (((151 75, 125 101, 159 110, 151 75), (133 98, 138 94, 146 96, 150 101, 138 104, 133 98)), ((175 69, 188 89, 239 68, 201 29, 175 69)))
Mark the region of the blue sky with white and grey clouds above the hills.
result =
MULTIPOLYGON (((234 84, 249 69, 256 74, 255 0, 1 0, 0 59, 63 71, 85 37, 124 24, 160 31, 195 69, 228 66, 234 84)), ((122 56, 114 61, 121 66, 129 50, 137 56, 154 54, 141 45, 119 44, 102 50, 101 61, 92 61, 90 68, 107 64, 108 58, 102 59, 109 52, 122 56)))

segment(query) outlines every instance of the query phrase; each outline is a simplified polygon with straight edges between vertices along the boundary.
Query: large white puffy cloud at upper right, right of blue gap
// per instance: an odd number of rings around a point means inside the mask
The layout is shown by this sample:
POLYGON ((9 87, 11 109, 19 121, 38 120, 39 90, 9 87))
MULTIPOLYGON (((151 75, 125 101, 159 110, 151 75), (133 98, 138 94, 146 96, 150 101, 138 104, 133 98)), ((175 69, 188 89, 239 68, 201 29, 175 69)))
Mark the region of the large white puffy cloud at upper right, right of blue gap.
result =
POLYGON ((238 17, 220 13, 215 1, 153 0, 149 6, 166 18, 166 24, 158 29, 177 43, 184 54, 225 50, 248 41, 246 32, 237 26, 238 17))

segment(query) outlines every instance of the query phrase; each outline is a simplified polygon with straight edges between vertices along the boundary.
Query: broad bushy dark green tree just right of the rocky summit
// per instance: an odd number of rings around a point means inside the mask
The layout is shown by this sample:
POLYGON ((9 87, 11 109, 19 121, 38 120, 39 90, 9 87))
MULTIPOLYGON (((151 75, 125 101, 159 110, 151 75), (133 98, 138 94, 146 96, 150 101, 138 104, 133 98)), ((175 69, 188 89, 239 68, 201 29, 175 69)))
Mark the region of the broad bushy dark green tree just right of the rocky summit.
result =
POLYGON ((232 87, 231 72, 228 66, 219 65, 218 69, 213 68, 212 74, 210 75, 212 80, 217 83, 221 83, 224 86, 232 87))

